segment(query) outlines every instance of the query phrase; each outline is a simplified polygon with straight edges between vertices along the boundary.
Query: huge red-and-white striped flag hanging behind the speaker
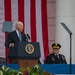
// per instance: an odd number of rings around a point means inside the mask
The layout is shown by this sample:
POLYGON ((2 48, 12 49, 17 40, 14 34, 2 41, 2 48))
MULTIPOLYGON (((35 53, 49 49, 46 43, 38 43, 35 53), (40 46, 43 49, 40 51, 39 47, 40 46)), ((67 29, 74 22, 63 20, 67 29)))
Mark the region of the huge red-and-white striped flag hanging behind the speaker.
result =
POLYGON ((47 0, 0 0, 0 57, 6 57, 4 43, 7 36, 2 32, 5 21, 13 22, 13 30, 17 21, 24 23, 23 32, 30 35, 30 41, 40 43, 40 61, 43 63, 49 53, 47 0))

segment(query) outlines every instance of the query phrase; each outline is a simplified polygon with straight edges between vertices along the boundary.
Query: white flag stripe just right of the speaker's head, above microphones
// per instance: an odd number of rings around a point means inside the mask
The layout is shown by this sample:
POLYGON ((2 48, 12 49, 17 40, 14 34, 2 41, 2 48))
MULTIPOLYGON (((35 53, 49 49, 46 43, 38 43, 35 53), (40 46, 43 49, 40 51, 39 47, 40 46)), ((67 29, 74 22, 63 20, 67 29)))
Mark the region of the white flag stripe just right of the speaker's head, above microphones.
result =
POLYGON ((24 0, 24 22, 25 28, 24 32, 31 36, 30 28, 30 0, 24 0))

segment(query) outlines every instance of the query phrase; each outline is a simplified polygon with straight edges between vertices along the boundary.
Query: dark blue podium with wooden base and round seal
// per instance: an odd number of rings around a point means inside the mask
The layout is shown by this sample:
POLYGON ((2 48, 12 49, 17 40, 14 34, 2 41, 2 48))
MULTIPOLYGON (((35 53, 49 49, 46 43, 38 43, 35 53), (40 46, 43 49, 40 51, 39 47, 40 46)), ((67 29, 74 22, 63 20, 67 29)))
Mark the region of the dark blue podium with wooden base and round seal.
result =
POLYGON ((8 58, 12 64, 19 64, 20 68, 32 68, 38 64, 40 56, 39 42, 17 42, 10 48, 8 58))

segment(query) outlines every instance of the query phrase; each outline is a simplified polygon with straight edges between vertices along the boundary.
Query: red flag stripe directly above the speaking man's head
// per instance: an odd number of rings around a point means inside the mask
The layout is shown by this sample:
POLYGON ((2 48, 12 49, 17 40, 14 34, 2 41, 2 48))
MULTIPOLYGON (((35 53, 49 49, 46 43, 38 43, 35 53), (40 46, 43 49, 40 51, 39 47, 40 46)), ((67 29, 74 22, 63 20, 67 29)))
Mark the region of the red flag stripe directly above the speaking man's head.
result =
POLYGON ((24 24, 24 0, 18 0, 18 21, 21 21, 24 24))

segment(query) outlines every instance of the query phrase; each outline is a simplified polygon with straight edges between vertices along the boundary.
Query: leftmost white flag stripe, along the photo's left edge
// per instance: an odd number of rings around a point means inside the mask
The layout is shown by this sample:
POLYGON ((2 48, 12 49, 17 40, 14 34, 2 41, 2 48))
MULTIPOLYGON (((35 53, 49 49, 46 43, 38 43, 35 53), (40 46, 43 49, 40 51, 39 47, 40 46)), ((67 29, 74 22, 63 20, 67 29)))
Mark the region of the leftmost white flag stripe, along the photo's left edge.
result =
POLYGON ((4 22, 4 0, 0 0, 0 57, 5 58, 5 35, 2 32, 2 26, 4 22))

